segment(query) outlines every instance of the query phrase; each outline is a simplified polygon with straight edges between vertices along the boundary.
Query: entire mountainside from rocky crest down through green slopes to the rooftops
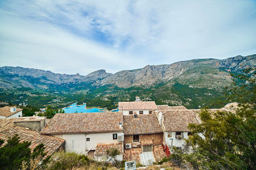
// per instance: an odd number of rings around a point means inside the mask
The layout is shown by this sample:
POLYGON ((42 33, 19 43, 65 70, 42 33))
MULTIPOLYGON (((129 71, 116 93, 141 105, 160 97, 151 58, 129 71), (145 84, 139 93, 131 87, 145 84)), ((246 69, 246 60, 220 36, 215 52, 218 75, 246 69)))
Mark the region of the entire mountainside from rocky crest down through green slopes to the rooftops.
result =
POLYGON ((220 108, 227 102, 221 96, 232 82, 230 73, 239 74, 253 66, 256 55, 188 60, 115 74, 99 70, 86 76, 0 67, 0 101, 36 108, 61 108, 77 102, 111 110, 118 101, 134 101, 140 96, 156 104, 220 108))

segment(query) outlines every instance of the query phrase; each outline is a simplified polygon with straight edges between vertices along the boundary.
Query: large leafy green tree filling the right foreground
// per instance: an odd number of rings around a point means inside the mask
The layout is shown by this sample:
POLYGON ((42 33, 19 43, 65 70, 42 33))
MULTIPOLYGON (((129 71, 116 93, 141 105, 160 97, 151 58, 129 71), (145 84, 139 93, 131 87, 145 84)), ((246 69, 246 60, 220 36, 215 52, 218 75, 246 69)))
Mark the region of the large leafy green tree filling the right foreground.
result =
POLYGON ((193 153, 176 151, 195 169, 256 169, 256 69, 234 77, 230 99, 239 101, 236 113, 201 111, 202 124, 190 124, 193 153))

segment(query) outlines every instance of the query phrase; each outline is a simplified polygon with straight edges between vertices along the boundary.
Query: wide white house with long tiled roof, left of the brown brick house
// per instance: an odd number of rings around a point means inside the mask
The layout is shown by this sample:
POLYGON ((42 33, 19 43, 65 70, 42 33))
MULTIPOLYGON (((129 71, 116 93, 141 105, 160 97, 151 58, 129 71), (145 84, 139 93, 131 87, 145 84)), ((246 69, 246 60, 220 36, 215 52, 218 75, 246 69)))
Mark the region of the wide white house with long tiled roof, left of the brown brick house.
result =
POLYGON ((67 152, 94 157, 99 144, 123 143, 122 125, 122 112, 58 113, 41 134, 65 139, 67 152))

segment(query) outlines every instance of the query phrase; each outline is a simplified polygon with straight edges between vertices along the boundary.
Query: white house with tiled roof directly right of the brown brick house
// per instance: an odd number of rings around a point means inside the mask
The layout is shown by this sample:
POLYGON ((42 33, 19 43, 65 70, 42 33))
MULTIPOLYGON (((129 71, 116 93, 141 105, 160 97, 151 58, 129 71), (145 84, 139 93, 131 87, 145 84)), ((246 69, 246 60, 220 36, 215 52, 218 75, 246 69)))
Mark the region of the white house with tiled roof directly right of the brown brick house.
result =
POLYGON ((184 148, 189 132, 189 124, 200 124, 196 111, 193 110, 170 110, 160 112, 159 122, 164 131, 164 142, 168 147, 176 146, 184 148))

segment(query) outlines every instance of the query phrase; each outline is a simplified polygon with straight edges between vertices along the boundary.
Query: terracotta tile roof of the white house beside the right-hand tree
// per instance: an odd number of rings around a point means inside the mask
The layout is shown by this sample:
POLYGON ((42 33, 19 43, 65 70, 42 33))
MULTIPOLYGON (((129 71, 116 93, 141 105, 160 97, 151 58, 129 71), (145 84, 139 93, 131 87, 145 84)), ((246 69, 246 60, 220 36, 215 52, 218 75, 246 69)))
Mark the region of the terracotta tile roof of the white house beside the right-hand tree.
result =
POLYGON ((166 131, 189 131, 188 124, 199 124, 196 111, 172 110, 163 113, 163 124, 166 131))

